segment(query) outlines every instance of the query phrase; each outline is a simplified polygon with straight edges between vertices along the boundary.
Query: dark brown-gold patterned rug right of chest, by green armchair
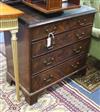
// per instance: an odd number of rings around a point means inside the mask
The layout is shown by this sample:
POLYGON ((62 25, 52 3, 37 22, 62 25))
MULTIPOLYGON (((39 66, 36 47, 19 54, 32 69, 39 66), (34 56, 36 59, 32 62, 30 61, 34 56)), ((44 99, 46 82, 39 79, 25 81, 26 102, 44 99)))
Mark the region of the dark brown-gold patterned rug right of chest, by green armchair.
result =
POLYGON ((73 75, 70 78, 88 91, 94 92, 97 88, 100 88, 100 61, 94 57, 89 57, 87 61, 87 73, 85 75, 73 75))

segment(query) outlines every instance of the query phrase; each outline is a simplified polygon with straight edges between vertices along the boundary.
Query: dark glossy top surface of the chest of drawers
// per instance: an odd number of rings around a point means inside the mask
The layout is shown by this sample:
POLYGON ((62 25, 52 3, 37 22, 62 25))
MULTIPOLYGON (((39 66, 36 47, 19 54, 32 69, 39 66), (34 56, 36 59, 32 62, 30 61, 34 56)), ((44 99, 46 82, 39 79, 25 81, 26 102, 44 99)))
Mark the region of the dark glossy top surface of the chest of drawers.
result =
POLYGON ((39 26, 47 23, 52 23, 56 21, 61 21, 64 19, 70 19, 73 17, 95 13, 95 9, 88 6, 81 6, 78 9, 65 10, 62 13, 55 13, 51 15, 46 15, 38 12, 23 3, 14 4, 15 8, 20 9, 24 12, 24 15, 20 19, 25 22, 29 27, 39 26))

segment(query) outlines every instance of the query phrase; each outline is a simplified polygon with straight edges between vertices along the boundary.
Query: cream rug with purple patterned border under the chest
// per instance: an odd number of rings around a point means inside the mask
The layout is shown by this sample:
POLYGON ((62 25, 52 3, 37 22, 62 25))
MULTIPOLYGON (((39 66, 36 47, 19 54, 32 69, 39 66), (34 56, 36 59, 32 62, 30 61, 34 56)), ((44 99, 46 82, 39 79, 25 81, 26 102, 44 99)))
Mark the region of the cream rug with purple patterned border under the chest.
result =
POLYGON ((100 112, 94 102, 64 82, 49 88, 32 106, 21 91, 21 101, 17 102, 15 86, 6 82, 6 70, 6 58, 0 54, 0 112, 100 112))

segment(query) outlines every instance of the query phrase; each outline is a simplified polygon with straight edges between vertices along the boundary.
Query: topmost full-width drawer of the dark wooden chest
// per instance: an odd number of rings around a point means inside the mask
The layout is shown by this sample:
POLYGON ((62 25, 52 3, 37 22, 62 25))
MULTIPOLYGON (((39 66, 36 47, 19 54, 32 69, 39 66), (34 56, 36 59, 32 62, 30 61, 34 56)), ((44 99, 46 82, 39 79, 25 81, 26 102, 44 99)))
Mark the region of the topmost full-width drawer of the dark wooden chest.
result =
POLYGON ((38 39, 47 37, 50 32, 58 34, 64 31, 93 24, 93 17, 93 14, 89 14, 31 28, 31 39, 36 41, 38 39))

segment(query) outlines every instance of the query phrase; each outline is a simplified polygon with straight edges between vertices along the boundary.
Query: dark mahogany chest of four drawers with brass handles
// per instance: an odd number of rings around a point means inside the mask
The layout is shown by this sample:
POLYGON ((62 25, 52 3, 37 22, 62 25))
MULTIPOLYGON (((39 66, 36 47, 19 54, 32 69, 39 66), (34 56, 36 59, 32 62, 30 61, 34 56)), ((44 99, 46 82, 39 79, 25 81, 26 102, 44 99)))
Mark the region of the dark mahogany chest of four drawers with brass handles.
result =
MULTIPOLYGON (((63 13, 44 15, 19 3, 18 52, 20 87, 29 104, 55 83, 86 72, 95 10, 82 6, 63 13)), ((11 34, 5 33, 7 81, 14 81, 11 34)))

